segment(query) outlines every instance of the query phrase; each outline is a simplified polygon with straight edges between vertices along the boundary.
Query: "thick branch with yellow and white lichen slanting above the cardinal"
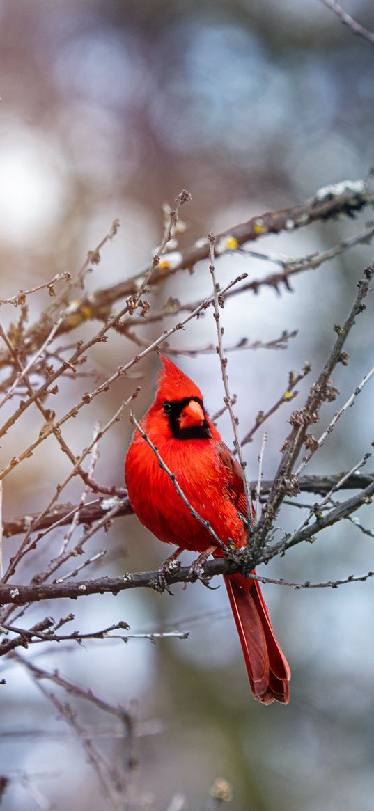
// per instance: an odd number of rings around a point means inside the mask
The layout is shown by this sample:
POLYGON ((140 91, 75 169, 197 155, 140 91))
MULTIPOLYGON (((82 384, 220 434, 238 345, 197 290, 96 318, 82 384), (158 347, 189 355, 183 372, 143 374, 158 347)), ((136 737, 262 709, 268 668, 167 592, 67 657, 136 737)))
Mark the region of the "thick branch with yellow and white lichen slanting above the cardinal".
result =
MULTIPOLYGON (((181 192, 181 195, 183 194, 186 193, 181 192)), ((181 195, 179 195, 179 199, 181 195)), ((353 217, 356 212, 359 212, 365 206, 371 205, 373 201, 374 180, 371 176, 369 176, 367 180, 343 181, 332 186, 320 188, 312 198, 306 200, 303 204, 284 208, 277 212, 265 212, 259 216, 251 217, 247 222, 233 225, 229 229, 217 234, 216 255, 224 255, 236 251, 247 243, 257 241, 267 234, 280 234, 282 231, 290 232, 299 230, 307 225, 312 225, 313 222, 325 222, 334 217, 353 217)), ((186 202, 186 200, 183 200, 183 202, 186 202)), ((175 209, 174 212, 171 212, 171 215, 174 214, 175 209)), ((171 216, 171 220, 174 222, 173 216, 171 216)), ((84 281, 84 276, 88 272, 89 265, 91 263, 98 264, 100 262, 101 248, 105 245, 105 242, 108 242, 108 240, 114 237, 118 227, 118 221, 114 221, 112 228, 109 233, 105 235, 105 238, 99 242, 93 251, 88 251, 88 258, 77 274, 76 281, 70 281, 67 292, 65 292, 62 297, 57 298, 56 301, 54 301, 53 307, 45 311, 42 315, 41 320, 25 332, 24 344, 27 346, 29 353, 37 351, 45 341, 51 326, 56 320, 55 315, 58 311, 58 307, 60 309, 62 306, 65 307, 62 324, 58 327, 58 335, 70 333, 71 330, 79 327, 80 324, 95 319, 104 320, 105 322, 108 319, 112 319, 112 326, 115 328, 116 325, 119 325, 119 321, 116 320, 112 313, 112 307, 115 302, 119 301, 121 298, 127 298, 130 307, 131 302, 134 303, 136 301, 138 304, 141 304, 140 291, 145 291, 149 285, 151 285, 152 288, 158 288, 175 273, 185 269, 191 271, 200 260, 208 259, 208 240, 203 238, 197 240, 195 245, 191 246, 186 251, 174 251, 164 255, 162 260, 160 251, 158 251, 148 268, 136 273, 127 281, 119 282, 117 285, 112 285, 103 290, 97 290, 93 294, 84 295, 80 298, 71 298, 71 293, 74 292, 74 288, 77 285, 81 285, 84 281), (150 268, 152 268, 152 272, 150 272, 150 268)), ((168 233, 164 235, 164 238, 167 235, 168 233)), ((357 239, 359 242, 367 242, 371 235, 368 230, 368 233, 360 234, 357 239)), ((166 241, 166 245, 168 241, 169 240, 166 241)), ((355 242, 352 244, 355 244, 355 242)), ((346 245, 342 245, 342 250, 346 250, 349 247, 352 246, 350 246, 347 241, 346 245)), ((329 258, 329 255, 326 255, 325 258, 320 256, 320 258, 316 260, 314 267, 322 264, 323 261, 329 258)), ((305 261, 302 262, 299 268, 295 266, 292 267, 292 265, 290 265, 289 268, 284 267, 282 271, 275 274, 275 276, 273 274, 264 280, 248 282, 247 289, 249 288, 253 290, 253 292, 257 292, 261 285, 270 285, 277 289, 277 285, 281 283, 285 285, 288 284, 287 279, 291 272, 301 272, 311 267, 313 267, 311 260, 309 260, 309 264, 305 263, 305 261)), ((126 307, 123 308, 121 315, 125 315, 127 311, 126 307)), ((146 315, 146 313, 144 313, 144 315, 146 315)), ((163 315, 167 315, 167 312, 165 311, 163 315)), ((7 350, 0 354, 0 365, 4 366, 6 363, 11 363, 11 358, 7 350)))

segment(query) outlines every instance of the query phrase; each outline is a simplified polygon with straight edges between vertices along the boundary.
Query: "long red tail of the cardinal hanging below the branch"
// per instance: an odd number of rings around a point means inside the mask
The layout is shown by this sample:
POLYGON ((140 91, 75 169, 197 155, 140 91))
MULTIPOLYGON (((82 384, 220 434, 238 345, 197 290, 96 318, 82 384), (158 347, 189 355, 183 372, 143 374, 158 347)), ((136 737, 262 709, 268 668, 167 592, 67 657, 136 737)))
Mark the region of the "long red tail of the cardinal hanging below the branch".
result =
POLYGON ((288 704, 290 667, 273 632, 260 584, 241 574, 224 580, 254 697, 263 704, 288 704))

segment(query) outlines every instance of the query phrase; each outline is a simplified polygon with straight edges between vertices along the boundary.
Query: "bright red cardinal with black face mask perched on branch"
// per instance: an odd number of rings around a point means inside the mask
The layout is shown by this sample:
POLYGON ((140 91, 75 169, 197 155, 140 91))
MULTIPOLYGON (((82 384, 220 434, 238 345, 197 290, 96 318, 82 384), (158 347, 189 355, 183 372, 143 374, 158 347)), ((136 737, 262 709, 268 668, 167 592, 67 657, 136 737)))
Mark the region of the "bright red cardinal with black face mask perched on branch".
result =
MULTIPOLYGON (((169 358, 161 357, 161 362, 157 395, 141 427, 190 504, 224 543, 232 539, 239 549, 247 543, 238 514, 247 513, 241 467, 209 419, 200 389, 169 358)), ((178 552, 212 551, 212 536, 191 515, 139 431, 128 449, 125 475, 134 513, 157 538, 176 544, 178 552)), ((213 555, 221 556, 221 548, 215 547, 213 555)), ((224 580, 253 695, 263 704, 287 704, 290 667, 277 643, 259 583, 239 573, 224 580)))

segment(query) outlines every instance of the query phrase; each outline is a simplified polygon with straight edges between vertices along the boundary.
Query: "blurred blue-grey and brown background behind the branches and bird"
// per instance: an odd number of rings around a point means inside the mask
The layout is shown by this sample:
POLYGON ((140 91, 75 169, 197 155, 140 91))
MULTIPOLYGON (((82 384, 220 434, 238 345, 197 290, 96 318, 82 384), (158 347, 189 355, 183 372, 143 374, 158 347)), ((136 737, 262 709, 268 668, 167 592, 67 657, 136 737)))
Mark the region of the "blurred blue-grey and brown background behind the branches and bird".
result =
MULTIPOLYGON (((374 28, 371 0, 345 0, 344 7, 374 28)), ((3 298, 48 281, 56 272, 76 271, 114 217, 121 229, 105 247, 88 290, 131 277, 149 263, 160 242, 161 204, 173 204, 183 188, 192 195, 182 214, 188 230, 180 245, 187 247, 209 230, 228 229, 307 200, 326 184, 365 178, 374 162, 374 49, 319 0, 2 0, 0 44, 3 298)), ((370 217, 366 209, 355 221, 316 224, 257 247, 305 256, 359 233, 370 217)), ((258 410, 267 410, 285 390, 290 369, 310 360, 312 376, 318 373, 333 343, 333 324, 342 323, 360 273, 371 262, 372 248, 357 247, 294 277, 292 293, 277 297, 266 288, 227 303, 227 345, 242 337, 269 341, 283 329, 299 330, 286 352, 230 354, 230 385, 239 397, 243 434, 258 410)), ((238 255, 217 264, 222 283, 243 270, 260 278, 270 269, 267 262, 238 255)), ((164 285, 155 300, 161 305, 172 295, 195 301, 209 292, 208 268, 201 263, 194 275, 184 272, 164 285)), ((31 323, 37 301, 29 300, 31 323)), ((9 324, 14 309, 2 311, 9 324)), ((340 366, 333 380, 341 393, 339 405, 372 367, 372 323, 370 312, 364 314, 350 336, 349 367, 340 366)), ((86 325, 76 340, 93 334, 96 326, 86 325)), ((214 331, 208 312, 170 345, 204 346, 215 341, 214 331)), ((158 334, 157 325, 144 328, 144 337, 158 334)), ((105 379, 134 351, 129 341, 112 336, 95 347, 90 360, 105 379)), ((217 356, 180 358, 180 365, 203 388, 208 410, 220 408, 217 356)), ((152 400, 156 371, 155 356, 139 367, 138 417, 152 400)), ((300 387, 299 397, 310 382, 300 387)), ((91 439, 96 418, 110 418, 133 384, 117 384, 104 400, 97 398, 80 422, 69 423, 66 436, 77 453, 91 439)), ((61 413, 88 385, 87 380, 62 385, 61 413)), ((368 451, 373 440, 369 387, 312 462, 311 473, 349 470, 368 451)), ((334 403, 325 406, 325 424, 334 410, 334 403)), ((40 430, 39 415, 28 414, 24 436, 6 437, 4 464, 40 430)), ((269 423, 265 478, 276 469, 289 414, 284 405, 269 423)), ((220 430, 231 444, 225 418, 220 430)), ((97 475, 101 482, 123 485, 130 436, 124 418, 105 438, 97 475)), ((260 442, 259 432, 246 449, 251 478, 256 477, 260 442)), ((62 454, 48 440, 6 479, 6 516, 43 508, 54 489, 51 472, 57 481, 66 470, 62 454)), ((75 482, 67 494, 73 503, 78 487, 75 482)), ((280 523, 290 529, 300 520, 300 513, 288 508, 280 523)), ((370 526, 372 508, 364 508, 362 521, 370 526)), ((56 532, 49 544, 54 547, 60 539, 56 532)), ((15 548, 17 539, 8 543, 15 548)), ((132 517, 115 521, 108 539, 95 536, 90 554, 103 544, 110 551, 104 563, 89 570, 92 577, 153 569, 168 552, 132 517)), ((44 556, 48 548, 38 552, 37 567, 44 556)), ((321 581, 370 568, 372 539, 346 522, 313 547, 296 547, 264 573, 321 581)), ((24 570, 25 581, 31 574, 24 570)), ((370 581, 313 592, 265 589, 293 673, 286 708, 264 708, 252 700, 226 594, 200 584, 175 587, 173 598, 139 590, 115 600, 106 595, 74 604, 80 630, 123 619, 134 632, 189 630, 188 641, 93 642, 61 651, 51 646, 37 659, 111 702, 139 702, 148 733, 139 742, 136 791, 154 811, 167 809, 178 795, 186 797, 189 808, 202 809, 219 776, 233 786, 235 811, 335 811, 342 805, 369 811, 374 792, 372 589, 370 581)), ((30 622, 46 613, 61 611, 62 616, 64 610, 71 611, 71 603, 39 608, 35 617, 30 613, 30 622)), ((57 809, 101 809, 84 753, 54 708, 15 663, 3 666, 1 676, 6 686, 0 762, 2 773, 11 775, 4 809, 37 807, 21 784, 25 774, 57 809)), ((88 726, 94 723, 90 715, 82 718, 88 726)), ((109 748, 115 761, 121 757, 121 741, 107 738, 106 752, 109 748)))

